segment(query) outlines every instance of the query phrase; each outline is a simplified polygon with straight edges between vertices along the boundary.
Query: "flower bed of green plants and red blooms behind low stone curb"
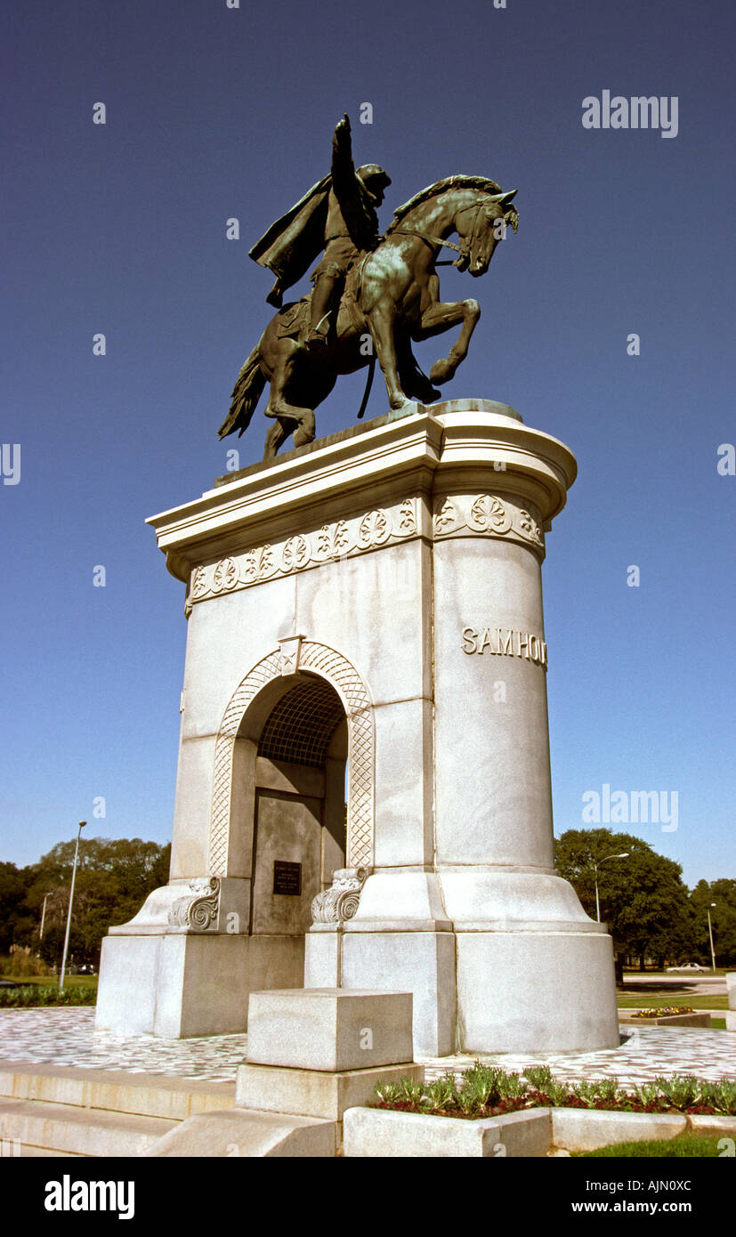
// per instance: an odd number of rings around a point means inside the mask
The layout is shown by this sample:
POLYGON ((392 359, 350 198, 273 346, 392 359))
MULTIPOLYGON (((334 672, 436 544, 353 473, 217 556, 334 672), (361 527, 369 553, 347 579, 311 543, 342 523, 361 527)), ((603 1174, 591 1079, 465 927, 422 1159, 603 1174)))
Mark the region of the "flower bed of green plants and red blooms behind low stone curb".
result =
POLYGON ((520 1075, 476 1061, 459 1084, 451 1074, 432 1082, 406 1077, 379 1084, 370 1107, 464 1121, 528 1108, 736 1116, 736 1082, 675 1075, 626 1089, 615 1077, 559 1082, 547 1065, 529 1066, 520 1075))

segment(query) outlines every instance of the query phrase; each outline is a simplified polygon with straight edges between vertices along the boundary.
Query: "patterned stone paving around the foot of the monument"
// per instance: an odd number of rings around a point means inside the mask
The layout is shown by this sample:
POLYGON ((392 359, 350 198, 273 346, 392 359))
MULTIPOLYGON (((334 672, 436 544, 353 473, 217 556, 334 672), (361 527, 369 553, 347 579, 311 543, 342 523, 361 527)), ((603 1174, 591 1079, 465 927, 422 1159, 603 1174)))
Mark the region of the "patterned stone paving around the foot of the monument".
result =
MULTIPOLYGON (((597 1053, 505 1053, 481 1055, 507 1070, 546 1063, 559 1079, 616 1076, 622 1085, 657 1075, 696 1074, 715 1081, 736 1079, 736 1035, 699 1027, 622 1028, 620 1048, 597 1053)), ((203 1039, 157 1039, 153 1035, 111 1035, 94 1029, 94 1009, 0 1009, 0 1061, 78 1065, 131 1074, 166 1074, 184 1079, 231 1082, 245 1060, 246 1035, 203 1039)), ((458 1074, 475 1058, 419 1058, 428 1077, 458 1074)))

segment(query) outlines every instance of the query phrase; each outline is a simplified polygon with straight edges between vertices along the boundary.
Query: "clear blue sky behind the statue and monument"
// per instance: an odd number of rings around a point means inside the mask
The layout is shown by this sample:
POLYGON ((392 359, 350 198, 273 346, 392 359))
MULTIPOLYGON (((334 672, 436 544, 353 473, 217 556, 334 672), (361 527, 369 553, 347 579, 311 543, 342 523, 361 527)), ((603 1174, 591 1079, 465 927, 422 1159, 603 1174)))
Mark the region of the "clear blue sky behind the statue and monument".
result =
MULTIPOLYGON (((0 437, 21 480, 0 485, 0 857, 80 818, 171 836, 183 586, 143 518, 209 489, 229 448, 261 456, 260 411, 216 438, 271 312, 247 249, 328 171, 348 111, 356 162, 393 178, 385 224, 454 172, 518 186, 489 275, 442 277, 484 310, 445 392, 508 402, 578 455, 546 564, 555 831, 604 783, 678 792, 675 833, 632 831, 689 883, 736 876, 736 477, 716 471, 736 435, 735 27, 731 0, 6 0, 0 437), (678 136, 585 130, 606 89, 677 96, 678 136)), ((354 422, 362 381, 319 434, 354 422)))

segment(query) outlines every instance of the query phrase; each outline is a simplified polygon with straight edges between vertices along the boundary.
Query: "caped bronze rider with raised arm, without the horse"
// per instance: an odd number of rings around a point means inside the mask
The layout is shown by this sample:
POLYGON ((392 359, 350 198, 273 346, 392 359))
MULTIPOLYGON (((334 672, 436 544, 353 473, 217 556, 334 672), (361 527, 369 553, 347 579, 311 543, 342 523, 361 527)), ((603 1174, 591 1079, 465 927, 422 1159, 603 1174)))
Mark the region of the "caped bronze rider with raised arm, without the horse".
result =
POLYGON ((307 336, 309 349, 320 350, 327 344, 350 267, 379 244, 376 207, 381 205, 388 184, 391 178, 376 163, 355 171, 350 121, 343 116, 333 137, 330 176, 313 186, 250 250, 260 266, 270 267, 276 275, 266 301, 280 308, 286 288, 304 275, 324 249, 310 277, 314 289, 307 336))

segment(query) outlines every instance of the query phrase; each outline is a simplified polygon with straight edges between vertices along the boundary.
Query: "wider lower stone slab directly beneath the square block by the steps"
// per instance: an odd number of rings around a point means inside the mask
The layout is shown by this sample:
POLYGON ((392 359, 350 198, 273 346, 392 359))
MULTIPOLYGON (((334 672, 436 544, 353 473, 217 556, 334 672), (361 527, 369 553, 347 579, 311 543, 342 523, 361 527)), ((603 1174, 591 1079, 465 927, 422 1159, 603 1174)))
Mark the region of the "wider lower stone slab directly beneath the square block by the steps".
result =
POLYGON ((421 1082, 421 1065, 388 1065, 369 1070, 296 1070, 280 1065, 241 1065, 237 1070, 235 1102, 239 1108, 265 1112, 296 1112, 304 1117, 341 1121, 346 1108, 375 1100, 377 1082, 402 1077, 421 1082))

